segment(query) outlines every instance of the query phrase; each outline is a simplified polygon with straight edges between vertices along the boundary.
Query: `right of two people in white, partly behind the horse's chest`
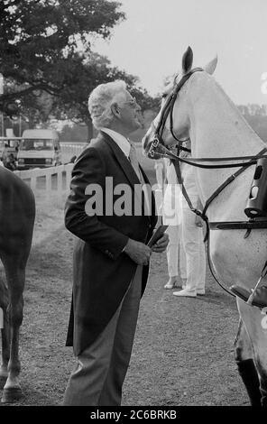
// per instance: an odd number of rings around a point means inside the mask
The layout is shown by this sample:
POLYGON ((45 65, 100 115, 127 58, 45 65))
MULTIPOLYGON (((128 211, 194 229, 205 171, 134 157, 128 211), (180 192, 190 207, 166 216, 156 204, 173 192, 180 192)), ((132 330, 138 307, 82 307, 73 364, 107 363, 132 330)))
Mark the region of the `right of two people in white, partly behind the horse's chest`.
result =
MULTIPOLYGON (((188 147, 189 144, 188 144, 188 147)), ((185 189, 193 207, 201 208, 201 202, 198 197, 194 167, 182 163, 181 175, 185 189)), ((206 253, 203 241, 203 221, 196 216, 189 208, 184 197, 182 197, 182 240, 186 253, 187 262, 187 281, 182 290, 174 291, 174 296, 196 297, 205 294, 206 280, 206 253)))

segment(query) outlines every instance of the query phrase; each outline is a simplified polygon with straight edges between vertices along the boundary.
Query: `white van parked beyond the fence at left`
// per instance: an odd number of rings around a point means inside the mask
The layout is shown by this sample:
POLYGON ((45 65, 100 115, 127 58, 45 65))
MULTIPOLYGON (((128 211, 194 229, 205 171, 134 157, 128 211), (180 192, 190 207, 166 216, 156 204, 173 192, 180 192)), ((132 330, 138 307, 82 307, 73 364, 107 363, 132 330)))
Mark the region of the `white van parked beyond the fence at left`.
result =
POLYGON ((24 130, 18 152, 18 169, 61 165, 59 135, 55 130, 24 130))

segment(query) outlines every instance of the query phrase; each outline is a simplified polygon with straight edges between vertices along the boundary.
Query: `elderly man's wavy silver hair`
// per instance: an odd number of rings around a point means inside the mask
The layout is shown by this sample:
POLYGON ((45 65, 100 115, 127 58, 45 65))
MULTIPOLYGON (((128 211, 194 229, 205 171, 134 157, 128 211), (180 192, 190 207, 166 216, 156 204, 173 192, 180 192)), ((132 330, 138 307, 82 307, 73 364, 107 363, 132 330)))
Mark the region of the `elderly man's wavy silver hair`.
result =
POLYGON ((90 94, 88 98, 88 109, 93 125, 99 128, 108 127, 114 115, 110 106, 112 103, 120 103, 126 99, 126 83, 117 79, 114 82, 100 84, 90 94))

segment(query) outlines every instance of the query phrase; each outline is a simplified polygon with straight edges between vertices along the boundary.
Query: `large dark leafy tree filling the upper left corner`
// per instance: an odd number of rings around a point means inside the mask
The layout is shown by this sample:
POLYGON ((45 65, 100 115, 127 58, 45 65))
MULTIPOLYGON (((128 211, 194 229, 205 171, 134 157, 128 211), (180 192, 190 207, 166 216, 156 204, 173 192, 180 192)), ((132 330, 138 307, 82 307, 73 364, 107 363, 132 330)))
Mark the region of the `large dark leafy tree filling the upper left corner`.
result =
POLYGON ((25 97, 41 91, 60 97, 75 87, 92 37, 109 37, 124 19, 119 6, 106 0, 3 0, 0 72, 14 89, 1 96, 0 110, 15 115, 25 97))

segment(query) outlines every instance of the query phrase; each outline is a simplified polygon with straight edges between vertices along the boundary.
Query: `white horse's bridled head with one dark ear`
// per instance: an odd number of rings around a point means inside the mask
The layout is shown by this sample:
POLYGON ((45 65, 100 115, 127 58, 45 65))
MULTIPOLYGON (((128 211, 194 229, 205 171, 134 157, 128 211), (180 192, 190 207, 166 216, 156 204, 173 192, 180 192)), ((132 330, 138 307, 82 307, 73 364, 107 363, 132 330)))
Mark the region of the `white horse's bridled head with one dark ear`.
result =
POLYGON ((189 47, 183 54, 181 71, 162 93, 161 110, 143 137, 143 149, 149 157, 158 159, 164 155, 162 146, 183 143, 185 139, 188 139, 190 123, 187 81, 196 71, 203 70, 212 74, 216 69, 216 62, 217 58, 208 62, 204 68, 192 69, 193 51, 189 47))

